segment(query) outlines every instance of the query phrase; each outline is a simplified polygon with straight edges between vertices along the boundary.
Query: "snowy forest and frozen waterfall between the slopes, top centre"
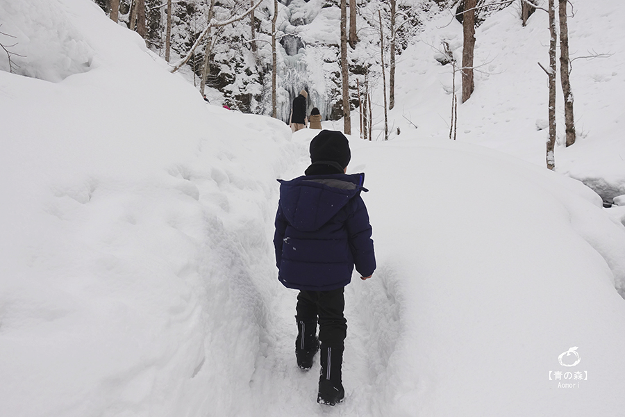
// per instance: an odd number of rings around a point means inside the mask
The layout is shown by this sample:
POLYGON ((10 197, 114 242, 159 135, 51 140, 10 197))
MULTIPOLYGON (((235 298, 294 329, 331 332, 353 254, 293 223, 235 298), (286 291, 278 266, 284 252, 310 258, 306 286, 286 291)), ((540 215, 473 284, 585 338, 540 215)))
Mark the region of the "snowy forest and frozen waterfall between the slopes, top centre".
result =
MULTIPOLYGON (((342 115, 338 1, 201 0, 165 4, 147 0, 143 4, 122 0, 117 5, 101 0, 98 3, 112 19, 142 33, 148 46, 169 63, 177 65, 188 59, 181 71, 192 77, 199 89, 205 85, 206 92, 215 89, 215 94, 223 95, 224 104, 231 108, 272 115, 275 67, 278 118, 288 119, 290 103, 301 88, 309 90, 311 101, 317 104, 324 120, 342 115), (211 19, 215 27, 207 31, 211 19), (218 23, 233 19, 237 20, 231 24, 218 23), (318 36, 321 33, 324 35, 318 36)), ((419 28, 419 16, 450 4, 450 1, 349 4, 351 106, 358 105, 356 79, 364 86, 365 79, 377 83, 381 77, 377 70, 381 60, 378 10, 384 13, 383 28, 389 28, 393 20, 392 27, 397 28, 394 50, 401 54, 419 28), (360 38, 363 42, 359 42, 360 38)))

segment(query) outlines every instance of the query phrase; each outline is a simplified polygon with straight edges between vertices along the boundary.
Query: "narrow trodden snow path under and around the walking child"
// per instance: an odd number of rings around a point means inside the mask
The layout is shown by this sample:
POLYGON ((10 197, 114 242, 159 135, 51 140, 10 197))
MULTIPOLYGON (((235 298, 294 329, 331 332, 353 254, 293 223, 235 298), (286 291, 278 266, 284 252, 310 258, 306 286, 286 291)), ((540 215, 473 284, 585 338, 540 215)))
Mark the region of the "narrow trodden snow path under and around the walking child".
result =
MULTIPOLYGON (((285 170, 278 176, 291 179, 302 174, 310 163, 308 142, 316 132, 306 131, 293 136, 288 157, 283 160, 285 170)), ((352 171, 353 172, 353 171, 352 171)), ((267 202, 267 210, 277 208, 278 183, 275 193, 267 202)), ((366 199, 366 195, 365 195, 366 199)), ((266 240, 273 237, 273 218, 266 225, 266 240)), ((273 252, 269 254, 272 261, 273 252)), ((387 363, 394 352, 399 331, 399 305, 394 293, 394 271, 381 266, 374 279, 363 282, 357 272, 352 283, 346 287, 345 316, 348 320, 344 352, 343 381, 346 400, 340 407, 322 407, 316 402, 319 380, 319 355, 313 368, 303 372, 297 368, 294 355, 294 339, 297 335, 294 314, 297 291, 284 288, 276 279, 273 263, 260 260, 265 287, 272 288, 260 294, 256 305, 257 316, 263 317, 258 325, 258 350, 249 380, 249 409, 239 409, 238 415, 306 415, 358 416, 383 414, 391 398, 380 395, 380 386, 389 378, 385 375, 387 363)), ((211 284, 212 285, 212 284, 211 284)), ((234 287, 233 287, 234 289, 234 287)), ((244 291, 237 288, 235 291, 244 291)), ((259 295, 258 293, 255 296, 259 295)), ((216 301, 215 304, 222 304, 216 301)), ((210 314, 209 314, 210 316, 210 314)), ((206 354, 210 354, 207 348, 206 354)))

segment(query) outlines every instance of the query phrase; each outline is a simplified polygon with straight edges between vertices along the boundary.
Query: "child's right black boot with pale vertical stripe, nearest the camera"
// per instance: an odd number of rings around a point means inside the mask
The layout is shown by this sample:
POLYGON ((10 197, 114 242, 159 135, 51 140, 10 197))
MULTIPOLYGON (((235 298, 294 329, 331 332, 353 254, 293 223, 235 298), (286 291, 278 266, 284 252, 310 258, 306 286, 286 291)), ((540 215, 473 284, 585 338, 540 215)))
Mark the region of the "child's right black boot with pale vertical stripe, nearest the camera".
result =
POLYGON ((341 375, 342 363, 343 347, 322 346, 319 393, 317 394, 319 404, 335 405, 345 398, 341 375))

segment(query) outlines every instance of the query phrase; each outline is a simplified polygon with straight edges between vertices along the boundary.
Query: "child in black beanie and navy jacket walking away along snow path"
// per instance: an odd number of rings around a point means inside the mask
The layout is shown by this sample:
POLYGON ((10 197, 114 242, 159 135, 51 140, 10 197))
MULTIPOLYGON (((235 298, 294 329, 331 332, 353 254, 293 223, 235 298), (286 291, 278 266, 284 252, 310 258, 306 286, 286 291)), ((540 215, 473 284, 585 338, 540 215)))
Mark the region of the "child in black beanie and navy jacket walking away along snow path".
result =
POLYGON ((299 368, 309 370, 321 349, 317 402, 328 405, 341 402, 345 395, 344 286, 351 281, 354 265, 363 280, 376 269, 369 215, 360 197, 367 191, 365 174, 346 174, 350 159, 347 138, 324 130, 310 142, 312 164, 305 175, 278 180, 274 247, 278 279, 299 290, 295 357, 299 368))

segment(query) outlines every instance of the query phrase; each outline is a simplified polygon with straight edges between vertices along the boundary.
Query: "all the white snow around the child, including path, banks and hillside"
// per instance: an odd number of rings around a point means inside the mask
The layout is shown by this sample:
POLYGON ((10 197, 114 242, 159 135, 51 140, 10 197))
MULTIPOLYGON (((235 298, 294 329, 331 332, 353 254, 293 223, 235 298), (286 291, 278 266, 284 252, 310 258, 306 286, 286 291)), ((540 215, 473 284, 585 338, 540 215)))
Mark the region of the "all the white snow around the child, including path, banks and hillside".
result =
MULTIPOLYGON (((271 245, 275 180, 301 174, 315 132, 206 104, 89 0, 0 3, 1 31, 55 63, 0 72, 1 414, 622 416, 625 227, 562 173, 625 183, 625 28, 615 1, 574 4, 574 49, 614 55, 576 61, 585 133, 559 172, 535 127, 546 18, 521 28, 511 8, 478 30, 492 69, 456 142, 425 43, 399 64, 401 135, 351 137, 378 270, 347 287, 347 398, 324 409, 271 245)), ((459 40, 428 24, 428 43, 459 40)))

